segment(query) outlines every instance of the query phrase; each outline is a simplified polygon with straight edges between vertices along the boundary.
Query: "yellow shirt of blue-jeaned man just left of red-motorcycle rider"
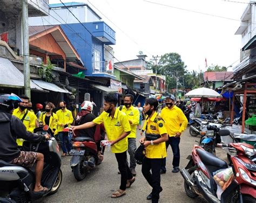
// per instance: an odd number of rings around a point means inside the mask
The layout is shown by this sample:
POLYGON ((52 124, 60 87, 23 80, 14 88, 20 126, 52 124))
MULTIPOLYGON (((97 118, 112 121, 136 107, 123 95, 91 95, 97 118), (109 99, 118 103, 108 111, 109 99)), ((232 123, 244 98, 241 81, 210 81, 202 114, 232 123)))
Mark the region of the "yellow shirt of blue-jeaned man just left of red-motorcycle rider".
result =
POLYGON ((64 111, 62 109, 57 110, 56 115, 58 117, 58 132, 62 132, 64 129, 61 124, 68 124, 70 127, 70 124, 73 123, 74 118, 72 112, 66 108, 64 111))

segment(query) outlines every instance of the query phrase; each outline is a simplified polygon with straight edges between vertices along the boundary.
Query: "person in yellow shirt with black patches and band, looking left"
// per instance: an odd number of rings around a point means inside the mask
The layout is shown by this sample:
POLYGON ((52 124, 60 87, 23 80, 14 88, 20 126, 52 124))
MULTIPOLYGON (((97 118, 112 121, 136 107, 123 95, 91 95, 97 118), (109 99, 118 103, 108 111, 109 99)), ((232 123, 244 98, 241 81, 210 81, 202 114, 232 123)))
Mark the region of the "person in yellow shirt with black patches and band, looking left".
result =
POLYGON ((147 115, 146 136, 139 140, 146 148, 146 155, 142 163, 142 173, 152 187, 152 192, 147 199, 158 202, 159 193, 163 190, 160 186, 160 169, 163 159, 166 157, 165 142, 168 140, 164 120, 157 113, 158 101, 155 98, 147 98, 144 104, 147 115), (150 172, 152 171, 152 174, 150 172))

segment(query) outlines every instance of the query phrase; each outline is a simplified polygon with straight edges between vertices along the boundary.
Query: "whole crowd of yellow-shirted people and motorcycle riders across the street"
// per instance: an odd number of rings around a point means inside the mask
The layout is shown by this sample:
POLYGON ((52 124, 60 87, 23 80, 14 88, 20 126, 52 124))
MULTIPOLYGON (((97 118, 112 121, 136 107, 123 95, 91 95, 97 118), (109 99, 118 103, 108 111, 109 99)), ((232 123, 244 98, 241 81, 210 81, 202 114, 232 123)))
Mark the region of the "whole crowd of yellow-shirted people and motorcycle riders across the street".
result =
MULTIPOLYGON (((5 150, 0 153, 0 159, 24 167, 31 167, 36 163, 38 170, 36 170, 37 185, 35 192, 46 191, 48 188, 40 184, 44 157, 37 152, 19 150, 24 139, 43 139, 31 132, 39 125, 47 124, 52 132, 51 136, 59 137, 63 151, 62 156, 66 156, 70 155, 72 143, 68 132, 63 131, 64 128, 72 128, 77 136, 92 138, 97 128, 99 128, 102 136, 100 140, 104 139, 106 133, 111 145, 111 151, 117 160, 121 181, 118 190, 112 193, 111 198, 119 198, 126 194, 126 188, 130 188, 136 180, 137 172, 134 153, 137 149, 136 136, 138 128, 141 130, 140 136, 142 136, 139 142, 144 145, 146 152, 142 163, 142 174, 152 187, 152 191, 146 199, 158 202, 159 194, 163 191, 160 185, 160 174, 166 172, 166 150, 169 145, 171 145, 173 152, 172 172, 179 172, 180 136, 187 125, 187 118, 182 109, 183 106, 181 104, 179 104, 179 107, 176 106, 176 100, 173 95, 166 97, 166 106, 161 109, 161 113, 158 113, 159 103, 155 98, 147 98, 143 107, 141 107, 140 103, 138 103, 138 107, 134 107, 133 95, 130 94, 125 95, 124 105, 119 107, 117 107, 118 99, 115 94, 108 94, 104 97, 104 100, 104 111, 98 117, 92 114, 93 102, 84 101, 81 105, 82 110, 74 119, 72 112, 66 108, 65 101, 59 103, 60 109, 56 113, 53 113, 55 106, 51 102, 45 105, 44 111, 42 111, 42 104, 36 104, 36 112, 33 112, 30 109, 32 104, 27 96, 16 96, 14 99, 13 95, 0 95, 0 125, 2 124, 1 117, 4 117, 7 123, 17 122, 18 127, 22 126, 21 135, 15 131, 17 127, 14 127, 15 130, 12 129, 12 125, 10 125, 9 130, 4 132, 3 136, 11 137, 11 140, 16 142, 8 141, 9 144, 7 144, 7 148, 9 147, 8 149, 12 149, 15 153, 12 152, 12 155, 10 155, 9 151, 11 150, 5 150), (19 106, 13 110, 14 101, 18 101, 19 106), (6 106, 8 106, 7 109, 6 106), (145 118, 145 122, 142 127, 143 118, 145 118), (130 155, 130 160, 127 160, 127 152, 130 155), (24 156, 24 153, 27 154, 24 156)), ((4 124, 6 125, 6 123, 4 124)), ((44 138, 49 137, 49 135, 46 135, 44 138)), ((100 145, 97 146, 100 148, 100 145)), ((6 147, 1 140, 0 147, 6 147)), ((101 150, 98 149, 98 151, 98 156, 103 157, 103 154, 100 153, 101 150)))

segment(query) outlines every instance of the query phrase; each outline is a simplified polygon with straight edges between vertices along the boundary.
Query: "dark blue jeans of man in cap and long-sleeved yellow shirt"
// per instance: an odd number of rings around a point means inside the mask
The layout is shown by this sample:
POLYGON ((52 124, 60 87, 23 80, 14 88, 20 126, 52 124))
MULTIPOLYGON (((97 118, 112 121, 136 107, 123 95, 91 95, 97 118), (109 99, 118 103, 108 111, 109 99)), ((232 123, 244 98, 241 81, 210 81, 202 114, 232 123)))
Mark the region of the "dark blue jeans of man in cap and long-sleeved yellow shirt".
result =
MULTIPOLYGON (((179 159, 180 159, 179 142, 180 142, 180 137, 169 137, 169 140, 165 142, 166 150, 167 150, 169 145, 171 145, 171 148, 172 148, 172 153, 173 153, 172 165, 173 165, 173 168, 179 167, 179 159)), ((161 170, 166 171, 165 166, 166 166, 166 158, 164 158, 164 160, 163 160, 163 164, 161 165, 161 170)))

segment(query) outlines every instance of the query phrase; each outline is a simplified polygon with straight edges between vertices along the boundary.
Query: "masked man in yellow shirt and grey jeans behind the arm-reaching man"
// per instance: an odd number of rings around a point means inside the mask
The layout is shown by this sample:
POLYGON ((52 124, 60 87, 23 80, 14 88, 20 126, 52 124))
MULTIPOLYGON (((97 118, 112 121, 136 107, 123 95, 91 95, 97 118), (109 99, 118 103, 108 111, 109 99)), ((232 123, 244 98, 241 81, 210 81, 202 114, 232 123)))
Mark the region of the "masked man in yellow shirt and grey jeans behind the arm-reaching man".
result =
MULTIPOLYGON (((136 160, 134 158, 134 154, 136 151, 136 129, 139 124, 139 110, 136 107, 132 106, 133 95, 126 94, 124 96, 124 106, 118 107, 118 110, 124 112, 128 118, 131 127, 131 133, 127 136, 128 138, 128 153, 130 155, 130 170, 133 176, 136 176, 136 160)), ((127 161, 128 162, 128 161, 127 161)), ((129 164, 128 164, 129 165, 129 164)))

